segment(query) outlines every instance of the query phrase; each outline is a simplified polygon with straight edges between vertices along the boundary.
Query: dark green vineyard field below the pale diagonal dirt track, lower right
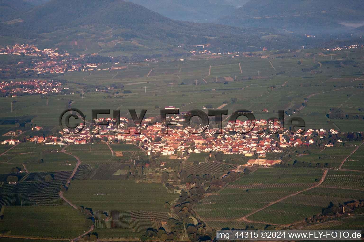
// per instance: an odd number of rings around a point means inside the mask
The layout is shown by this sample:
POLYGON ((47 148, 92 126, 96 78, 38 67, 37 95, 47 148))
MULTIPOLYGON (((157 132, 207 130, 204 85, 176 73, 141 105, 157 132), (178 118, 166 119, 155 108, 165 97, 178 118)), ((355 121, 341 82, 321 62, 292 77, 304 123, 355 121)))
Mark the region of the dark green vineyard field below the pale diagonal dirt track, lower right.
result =
POLYGON ((287 225, 320 214, 330 202, 343 203, 363 200, 364 174, 329 171, 324 182, 312 189, 291 196, 248 216, 250 221, 287 225), (277 217, 277 214, 279 216, 277 217))

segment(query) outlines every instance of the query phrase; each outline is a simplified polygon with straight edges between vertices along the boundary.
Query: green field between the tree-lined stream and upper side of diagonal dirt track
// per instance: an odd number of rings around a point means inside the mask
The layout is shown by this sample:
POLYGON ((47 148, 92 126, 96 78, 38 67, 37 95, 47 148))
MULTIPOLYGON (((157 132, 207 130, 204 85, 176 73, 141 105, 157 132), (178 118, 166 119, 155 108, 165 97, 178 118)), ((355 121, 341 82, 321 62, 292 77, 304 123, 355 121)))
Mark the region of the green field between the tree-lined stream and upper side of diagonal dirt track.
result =
POLYGON ((315 185, 315 180, 320 180, 322 175, 323 171, 316 168, 258 168, 231 182, 218 194, 203 198, 195 209, 207 224, 218 220, 236 221, 273 201, 315 185))

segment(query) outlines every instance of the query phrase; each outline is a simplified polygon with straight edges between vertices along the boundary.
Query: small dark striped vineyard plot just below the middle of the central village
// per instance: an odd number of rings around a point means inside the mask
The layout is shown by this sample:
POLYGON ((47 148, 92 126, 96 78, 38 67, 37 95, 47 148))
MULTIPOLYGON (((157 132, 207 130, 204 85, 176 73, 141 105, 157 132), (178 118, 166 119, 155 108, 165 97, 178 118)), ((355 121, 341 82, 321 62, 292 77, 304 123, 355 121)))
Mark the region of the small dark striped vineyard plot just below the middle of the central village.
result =
POLYGON ((193 165, 191 163, 184 163, 183 169, 187 174, 205 175, 205 174, 216 174, 222 175, 227 173, 230 169, 236 169, 236 165, 223 164, 218 162, 203 162, 199 165, 193 165))

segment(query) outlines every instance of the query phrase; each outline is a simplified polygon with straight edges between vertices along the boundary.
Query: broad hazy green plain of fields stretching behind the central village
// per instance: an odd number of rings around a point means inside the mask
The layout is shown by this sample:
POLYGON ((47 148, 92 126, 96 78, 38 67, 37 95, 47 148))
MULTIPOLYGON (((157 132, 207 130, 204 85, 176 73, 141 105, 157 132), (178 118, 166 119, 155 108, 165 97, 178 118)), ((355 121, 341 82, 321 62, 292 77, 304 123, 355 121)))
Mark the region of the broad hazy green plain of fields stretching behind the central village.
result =
MULTIPOLYGON (((322 65, 315 69, 320 73, 313 74, 302 72, 303 68, 316 65, 312 53, 308 56, 301 54, 304 57, 303 65, 297 65, 300 61, 292 57, 283 60, 231 58, 231 55, 226 55, 225 58, 128 65, 128 69, 113 69, 110 72, 72 71, 59 78, 67 80, 67 86, 87 90, 83 99, 76 93, 68 94, 67 98, 52 95, 48 97, 48 105, 44 105, 45 99, 37 95, 20 96, 17 97, 14 108, 17 116, 29 117, 32 123, 44 126, 43 130, 37 131, 39 134, 52 133, 58 128, 58 116, 70 100, 73 101, 72 107, 79 108, 87 117, 91 117, 93 102, 98 103, 98 108, 120 109, 121 115, 128 118, 128 108, 147 109, 146 117, 151 117, 159 115, 156 105, 176 106, 181 111, 189 111, 193 108, 201 109, 206 104, 217 108, 224 101, 229 101, 225 106, 229 112, 239 108, 253 112, 266 108, 271 113, 276 113, 278 109, 300 108, 295 115, 304 118, 307 128, 363 131, 363 120, 327 118, 334 107, 340 107, 344 113, 362 114, 360 101, 363 100, 364 93, 358 87, 363 81, 359 78, 359 69, 352 65, 361 63, 359 56, 353 56, 353 62, 347 64, 340 62, 343 63, 342 67, 336 67, 336 62, 330 60, 331 56, 315 56, 322 65), (198 85, 191 85, 196 84, 195 80, 198 85), (89 86, 106 87, 113 83, 123 84, 124 89, 131 90, 131 93, 124 95, 122 89, 117 89, 119 94, 114 97, 114 92, 100 93, 89 86), (169 83, 172 83, 172 88, 169 83), (182 94, 185 95, 182 97, 182 94), (106 96, 110 98, 105 99, 106 96), (231 103, 230 99, 234 97, 238 100, 231 103), (89 101, 90 98, 93 102, 89 101), (302 106, 305 99, 307 102, 302 106), (47 113, 46 118, 34 115, 37 110, 47 113)), ((8 103, 9 100, 5 103, 4 99, 0 99, 0 104, 4 107, 0 113, 2 117, 12 120, 15 117, 8 103)), ((267 119, 270 116, 272 115, 259 114, 257 118, 267 119)), ((28 134, 35 134, 35 131, 26 131, 25 135, 28 134)))

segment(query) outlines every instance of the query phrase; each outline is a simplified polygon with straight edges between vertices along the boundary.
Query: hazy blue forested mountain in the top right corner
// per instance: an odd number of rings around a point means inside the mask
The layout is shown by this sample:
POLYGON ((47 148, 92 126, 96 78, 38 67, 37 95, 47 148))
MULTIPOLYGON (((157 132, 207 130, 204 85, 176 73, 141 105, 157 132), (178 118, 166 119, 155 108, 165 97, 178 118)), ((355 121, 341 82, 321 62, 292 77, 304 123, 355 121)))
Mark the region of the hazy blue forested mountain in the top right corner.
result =
POLYGON ((347 30, 352 23, 363 24, 364 5, 355 0, 250 0, 218 22, 307 34, 334 33, 347 30))

